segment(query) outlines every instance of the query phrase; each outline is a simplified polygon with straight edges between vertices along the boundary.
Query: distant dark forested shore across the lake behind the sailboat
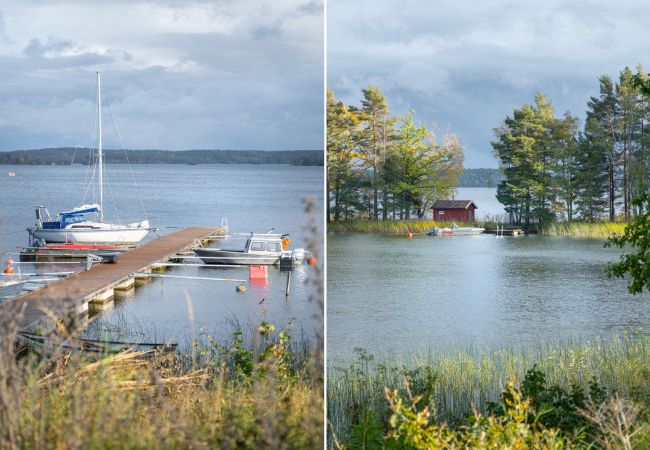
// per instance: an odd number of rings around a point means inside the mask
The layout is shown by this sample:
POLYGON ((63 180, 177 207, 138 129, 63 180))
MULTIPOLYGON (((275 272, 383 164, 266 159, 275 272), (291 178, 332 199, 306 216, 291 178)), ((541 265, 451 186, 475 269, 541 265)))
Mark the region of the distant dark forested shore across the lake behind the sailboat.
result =
MULTIPOLYGON (((94 149, 45 148, 0 152, 0 165, 93 164, 94 149)), ((106 164, 290 164, 322 166, 322 150, 104 150, 106 164)))

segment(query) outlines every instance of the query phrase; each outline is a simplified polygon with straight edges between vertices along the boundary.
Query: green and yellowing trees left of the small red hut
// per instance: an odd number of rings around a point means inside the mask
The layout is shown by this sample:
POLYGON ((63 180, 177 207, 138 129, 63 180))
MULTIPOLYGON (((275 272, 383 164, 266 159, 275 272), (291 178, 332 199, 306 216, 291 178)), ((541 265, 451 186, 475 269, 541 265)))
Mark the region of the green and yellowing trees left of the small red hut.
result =
POLYGON ((384 94, 362 90, 359 106, 327 92, 327 220, 423 217, 449 196, 463 149, 451 132, 416 125, 413 112, 390 114, 384 94))

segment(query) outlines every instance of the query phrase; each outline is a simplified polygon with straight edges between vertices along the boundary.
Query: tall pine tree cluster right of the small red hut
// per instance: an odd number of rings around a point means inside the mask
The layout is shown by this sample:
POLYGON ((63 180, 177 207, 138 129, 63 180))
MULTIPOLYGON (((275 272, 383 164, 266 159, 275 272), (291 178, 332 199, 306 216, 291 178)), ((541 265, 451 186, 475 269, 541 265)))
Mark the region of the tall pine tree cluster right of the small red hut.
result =
POLYGON ((648 75, 626 67, 615 81, 599 78, 599 95, 587 102, 582 129, 569 112, 556 117, 538 93, 494 130, 495 156, 505 179, 497 199, 510 221, 615 221, 639 213, 632 199, 650 181, 648 75))

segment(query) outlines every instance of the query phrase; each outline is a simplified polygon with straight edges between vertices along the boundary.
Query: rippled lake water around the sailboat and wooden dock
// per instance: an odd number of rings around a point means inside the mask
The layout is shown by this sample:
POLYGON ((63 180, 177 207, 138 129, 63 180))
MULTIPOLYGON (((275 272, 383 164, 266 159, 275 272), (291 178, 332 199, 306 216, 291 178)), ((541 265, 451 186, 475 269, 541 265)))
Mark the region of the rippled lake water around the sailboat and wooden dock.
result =
MULTIPOLYGON (((16 247, 27 243, 25 228, 34 222, 33 205, 46 205, 55 213, 81 204, 87 170, 84 166, 2 166, 0 252, 17 253, 16 247), (17 176, 6 176, 9 171, 17 176)), ((227 218, 232 233, 275 228, 291 233, 292 246, 302 247, 309 221, 302 204, 306 196, 316 198, 316 216, 322 222, 322 167, 134 165, 131 170, 137 189, 128 166, 107 166, 107 219, 129 222, 150 217, 160 227, 157 235, 183 226, 219 225, 221 218, 227 218)), ((86 202, 91 200, 86 196, 86 202)), ((230 239, 217 245, 243 243, 230 239)), ((57 270, 63 269, 57 266, 57 270)), ((247 268, 181 267, 167 273, 248 280, 247 268)), ((322 326, 322 319, 316 317, 318 306, 310 300, 314 292, 310 279, 309 266, 294 271, 289 299, 285 299, 286 274, 277 268, 270 268, 268 284, 250 286, 244 294, 235 293, 233 283, 152 280, 136 289, 133 297, 116 301, 114 309, 102 313, 91 329, 115 338, 172 339, 182 344, 192 334, 223 338, 230 335, 234 323, 248 327, 266 320, 278 327, 291 324, 296 334, 309 338, 322 326)))

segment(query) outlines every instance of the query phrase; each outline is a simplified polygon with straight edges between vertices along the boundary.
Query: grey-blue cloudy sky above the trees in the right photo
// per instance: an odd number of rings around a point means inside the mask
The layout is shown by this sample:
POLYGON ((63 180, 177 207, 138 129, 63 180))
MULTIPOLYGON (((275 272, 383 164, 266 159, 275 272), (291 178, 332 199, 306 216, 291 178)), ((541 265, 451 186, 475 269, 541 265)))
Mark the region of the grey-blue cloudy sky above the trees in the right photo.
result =
POLYGON ((456 132, 466 167, 496 167, 492 129, 542 91, 584 118, 598 77, 650 70, 650 3, 558 0, 328 0, 328 85, 363 87, 392 112, 456 132))

